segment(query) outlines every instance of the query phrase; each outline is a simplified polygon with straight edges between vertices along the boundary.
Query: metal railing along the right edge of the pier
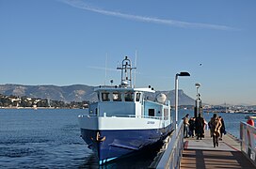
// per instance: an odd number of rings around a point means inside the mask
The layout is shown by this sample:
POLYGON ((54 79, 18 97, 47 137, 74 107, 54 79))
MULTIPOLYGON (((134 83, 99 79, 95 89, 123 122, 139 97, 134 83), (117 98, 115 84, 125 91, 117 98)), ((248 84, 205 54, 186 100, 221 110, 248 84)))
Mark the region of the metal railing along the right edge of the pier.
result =
POLYGON ((245 122, 240 123, 241 151, 256 166, 256 128, 245 122))

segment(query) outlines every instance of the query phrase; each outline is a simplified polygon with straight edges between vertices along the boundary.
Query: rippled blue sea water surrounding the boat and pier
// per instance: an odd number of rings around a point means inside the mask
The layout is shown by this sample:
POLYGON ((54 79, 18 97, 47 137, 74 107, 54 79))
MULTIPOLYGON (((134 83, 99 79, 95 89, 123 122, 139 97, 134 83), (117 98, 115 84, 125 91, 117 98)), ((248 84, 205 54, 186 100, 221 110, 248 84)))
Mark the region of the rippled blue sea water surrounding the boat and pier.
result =
MULTIPOLYGON (((0 168, 99 168, 80 138, 77 115, 87 110, 0 109, 0 168)), ((181 111, 179 118, 192 111, 181 111)), ((208 121, 213 114, 204 114, 208 121)), ((239 135, 245 115, 219 114, 227 131, 239 135)), ((104 168, 147 168, 155 152, 104 165, 104 168)))

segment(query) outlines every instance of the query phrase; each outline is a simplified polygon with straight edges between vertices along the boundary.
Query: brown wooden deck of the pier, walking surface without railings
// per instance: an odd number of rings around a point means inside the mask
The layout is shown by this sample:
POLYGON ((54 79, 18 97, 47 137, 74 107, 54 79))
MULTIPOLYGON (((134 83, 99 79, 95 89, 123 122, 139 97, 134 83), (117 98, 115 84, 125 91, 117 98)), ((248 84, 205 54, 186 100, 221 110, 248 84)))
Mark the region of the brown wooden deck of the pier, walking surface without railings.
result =
POLYGON ((184 139, 181 168, 256 168, 240 150, 240 143, 230 134, 224 135, 214 147, 209 131, 205 131, 202 140, 195 137, 184 139))

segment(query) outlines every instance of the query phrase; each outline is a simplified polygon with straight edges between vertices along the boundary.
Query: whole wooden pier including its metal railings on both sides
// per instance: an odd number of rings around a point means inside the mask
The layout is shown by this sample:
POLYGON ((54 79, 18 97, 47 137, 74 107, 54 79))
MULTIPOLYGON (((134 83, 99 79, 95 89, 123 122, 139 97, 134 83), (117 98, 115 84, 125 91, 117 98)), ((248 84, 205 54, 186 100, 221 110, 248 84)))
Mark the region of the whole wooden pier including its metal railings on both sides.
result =
POLYGON ((181 122, 166 146, 155 168, 256 168, 256 128, 242 122, 239 139, 228 133, 216 147, 208 130, 202 140, 184 139, 181 122))

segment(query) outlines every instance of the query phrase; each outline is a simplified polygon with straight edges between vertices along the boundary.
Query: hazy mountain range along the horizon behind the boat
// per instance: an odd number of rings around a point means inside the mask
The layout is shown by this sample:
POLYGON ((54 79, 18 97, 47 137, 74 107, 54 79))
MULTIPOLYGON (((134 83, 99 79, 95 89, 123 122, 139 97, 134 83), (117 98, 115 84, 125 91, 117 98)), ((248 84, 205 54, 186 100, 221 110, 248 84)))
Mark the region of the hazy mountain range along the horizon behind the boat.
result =
MULTIPOLYGON (((93 92, 94 86, 85 84, 73 84, 66 86, 56 85, 22 85, 22 84, 0 84, 0 94, 26 96, 31 98, 71 101, 96 101, 97 95, 93 92)), ((171 105, 174 105, 175 91, 156 91, 154 94, 147 94, 147 97, 154 100, 159 93, 167 95, 171 105)), ((195 100, 184 94, 183 90, 179 90, 179 105, 194 105, 195 100)))

